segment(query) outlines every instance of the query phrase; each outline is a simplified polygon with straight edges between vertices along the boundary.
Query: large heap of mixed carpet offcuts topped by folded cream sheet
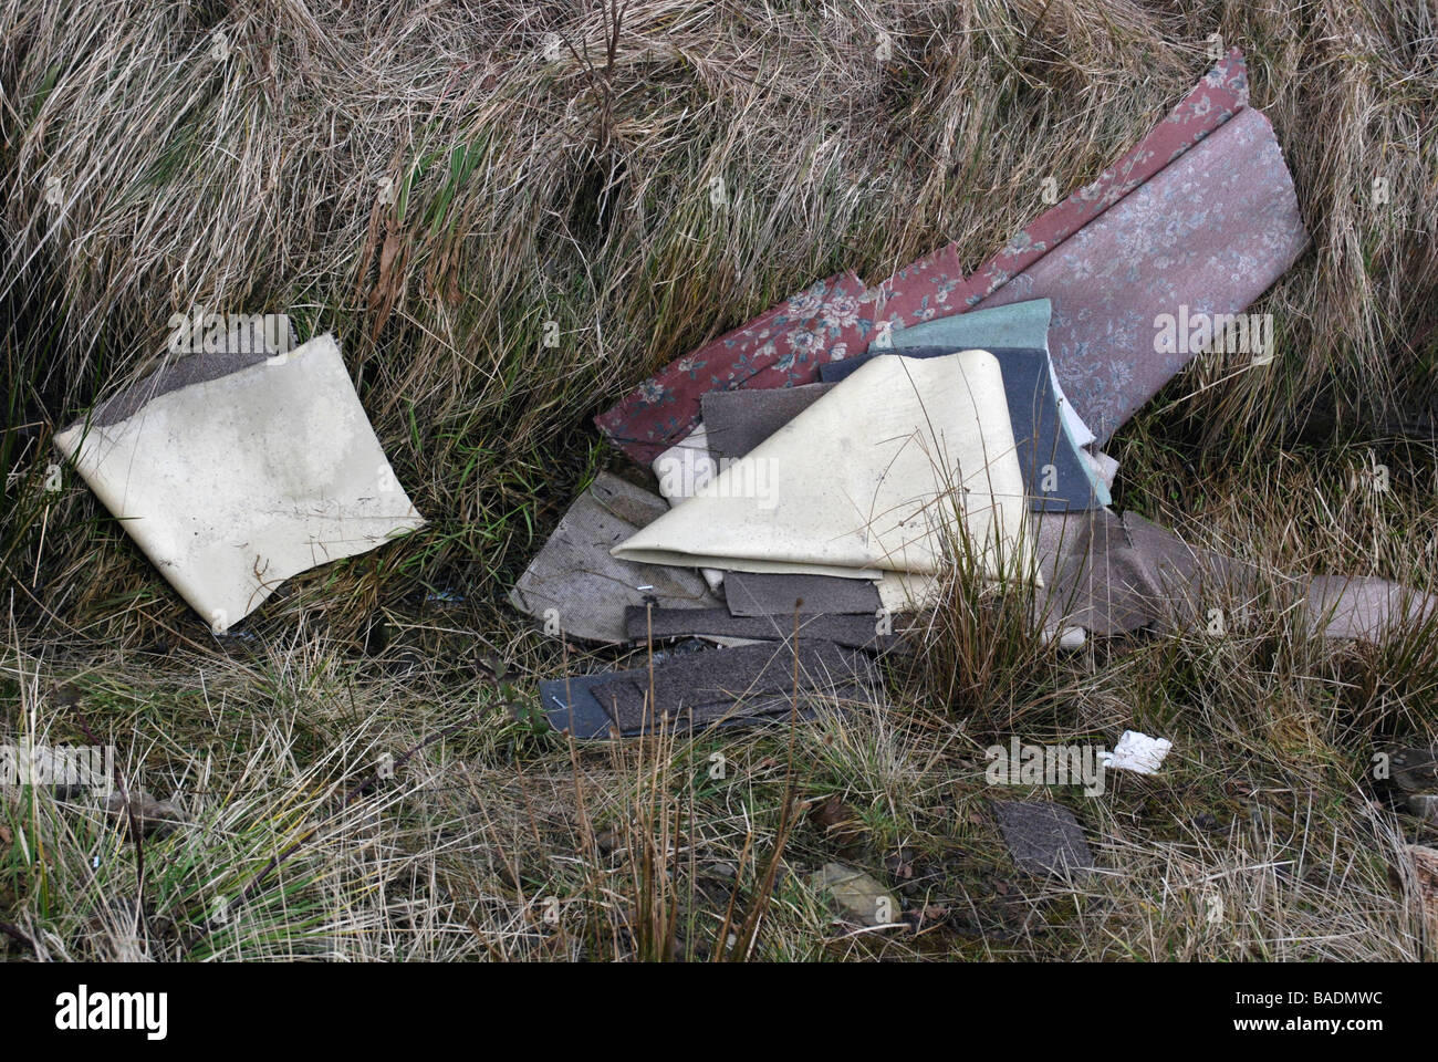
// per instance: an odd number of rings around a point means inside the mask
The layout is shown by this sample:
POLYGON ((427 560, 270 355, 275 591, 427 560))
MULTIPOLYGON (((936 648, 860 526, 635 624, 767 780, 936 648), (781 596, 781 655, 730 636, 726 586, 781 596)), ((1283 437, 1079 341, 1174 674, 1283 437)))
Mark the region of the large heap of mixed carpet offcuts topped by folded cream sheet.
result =
MULTIPOLYGON (((1102 448, 1235 331, 1271 360, 1241 311, 1307 243, 1235 49, 974 275, 951 245, 876 288, 833 276, 672 363, 595 420, 663 496, 600 475, 510 600, 565 637, 719 648, 544 682, 549 721, 595 738, 864 698, 956 568, 1030 586, 1063 648, 1202 626, 1251 566, 1113 512, 1102 448)), ((1432 607, 1383 580, 1290 583, 1324 636, 1432 607)))

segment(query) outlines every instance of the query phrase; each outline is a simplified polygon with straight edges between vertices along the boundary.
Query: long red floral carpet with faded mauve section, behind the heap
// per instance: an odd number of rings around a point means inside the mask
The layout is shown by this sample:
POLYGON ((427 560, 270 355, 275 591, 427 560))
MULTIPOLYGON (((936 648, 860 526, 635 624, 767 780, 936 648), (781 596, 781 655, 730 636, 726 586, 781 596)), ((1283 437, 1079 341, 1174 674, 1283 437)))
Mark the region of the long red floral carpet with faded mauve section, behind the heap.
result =
POLYGON ((1153 353, 1156 314, 1237 312, 1306 245, 1293 181, 1267 119, 1248 109, 1234 49, 1137 147, 974 275, 951 243, 867 291, 854 273, 821 281, 672 363, 595 423, 649 463, 699 422, 706 391, 812 383, 818 366, 892 331, 1047 296, 1058 381, 1103 440, 1191 357, 1153 353))

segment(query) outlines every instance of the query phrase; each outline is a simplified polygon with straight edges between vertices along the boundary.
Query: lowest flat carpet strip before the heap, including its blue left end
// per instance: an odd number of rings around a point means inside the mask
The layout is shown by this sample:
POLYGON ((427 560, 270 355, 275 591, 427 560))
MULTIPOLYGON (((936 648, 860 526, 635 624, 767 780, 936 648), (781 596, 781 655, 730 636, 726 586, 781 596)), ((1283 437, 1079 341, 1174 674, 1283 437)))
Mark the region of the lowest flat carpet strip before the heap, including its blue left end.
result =
POLYGON ((686 653, 650 668, 569 676, 539 684, 549 724, 575 740, 637 737, 659 730, 785 724, 812 718, 825 705, 873 704, 879 672, 860 650, 800 639, 686 653), (795 712, 797 708, 797 712, 795 712))

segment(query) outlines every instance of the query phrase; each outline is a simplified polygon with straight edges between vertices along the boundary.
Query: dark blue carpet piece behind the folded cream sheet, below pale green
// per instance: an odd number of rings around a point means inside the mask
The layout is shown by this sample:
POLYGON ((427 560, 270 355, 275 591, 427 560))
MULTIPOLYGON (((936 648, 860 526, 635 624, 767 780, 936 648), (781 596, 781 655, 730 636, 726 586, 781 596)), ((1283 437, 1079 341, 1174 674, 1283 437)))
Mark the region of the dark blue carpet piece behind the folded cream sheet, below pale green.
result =
MULTIPOLYGON (((962 318, 959 318, 962 319, 962 318)), ((1099 481, 1094 492, 1089 466, 1064 430, 1063 414, 1051 386, 1048 354, 1043 348, 984 347, 998 358, 1004 373, 1004 397, 1014 427, 1018 466, 1028 491, 1028 507, 1037 512, 1096 509, 1109 504, 1107 488, 1099 481)), ((955 353, 951 347, 903 347, 906 358, 933 358, 955 353)), ((824 383, 851 376, 870 354, 834 361, 820 368, 824 383)))

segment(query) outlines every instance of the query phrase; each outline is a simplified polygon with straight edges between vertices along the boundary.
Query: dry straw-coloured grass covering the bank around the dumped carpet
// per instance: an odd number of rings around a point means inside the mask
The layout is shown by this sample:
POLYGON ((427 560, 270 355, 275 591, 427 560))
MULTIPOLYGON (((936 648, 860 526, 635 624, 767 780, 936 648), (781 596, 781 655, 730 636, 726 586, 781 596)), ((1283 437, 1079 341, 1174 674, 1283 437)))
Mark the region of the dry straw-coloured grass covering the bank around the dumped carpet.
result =
POLYGON ((575 750, 509 707, 613 653, 557 648, 502 603, 617 462, 588 416, 815 276, 876 281, 949 239, 978 265, 1043 178, 1077 186, 1142 135, 1215 32, 1247 52, 1314 249, 1258 307, 1273 371, 1176 380, 1114 442, 1117 502, 1273 571, 1438 586, 1438 458, 1386 436, 1426 423, 1438 354, 1431 6, 637 1, 617 33, 613 16, 0 0, 0 740, 82 740, 55 692, 72 682, 125 777, 188 819, 144 845, 141 888, 93 797, 6 796, 0 920, 42 957, 1432 954, 1388 869, 1425 835, 1366 774, 1376 744, 1438 737, 1432 639, 1323 646, 1271 610, 1217 642, 1060 656, 961 583, 883 709, 575 750), (45 489, 53 430, 152 366, 191 305, 335 330, 433 521, 290 580, 223 642, 68 471, 45 489), (1353 485, 1372 462, 1388 492, 1353 485), (1018 876, 982 750, 1126 727, 1175 740, 1163 779, 1057 794, 1104 872, 1018 876), (441 731, 347 803, 383 753, 441 731), (785 810, 791 789, 841 796, 858 840, 837 852, 785 810), (805 878, 840 855, 935 920, 835 924, 805 878))

